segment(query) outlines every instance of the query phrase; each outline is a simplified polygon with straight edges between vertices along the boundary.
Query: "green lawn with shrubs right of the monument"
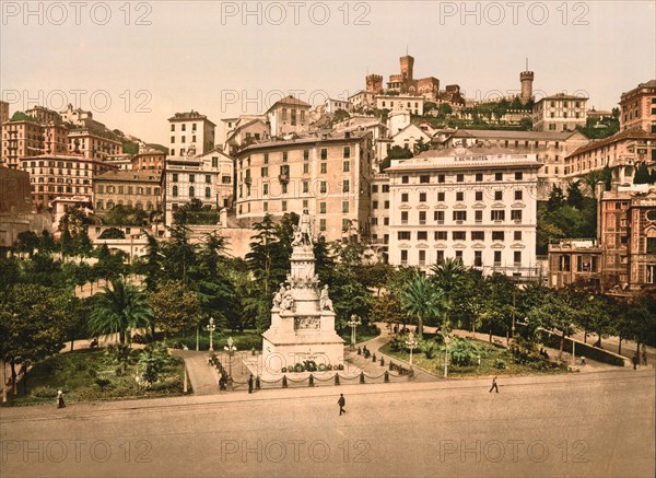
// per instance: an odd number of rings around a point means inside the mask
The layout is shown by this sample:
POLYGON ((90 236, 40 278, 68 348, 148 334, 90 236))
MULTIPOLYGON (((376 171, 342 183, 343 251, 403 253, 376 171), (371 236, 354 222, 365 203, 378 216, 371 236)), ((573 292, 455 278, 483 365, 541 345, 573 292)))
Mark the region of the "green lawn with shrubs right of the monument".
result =
MULTIPOLYGON (((515 358, 506 348, 493 346, 480 340, 468 339, 468 341, 478 350, 478 353, 472 355, 472 363, 469 365, 457 365, 452 358, 448 365, 448 375, 452 378, 469 378, 473 376, 490 375, 535 375, 566 372, 566 368, 561 368, 538 357, 515 358)), ((401 360, 410 360, 410 352, 408 350, 403 349, 395 351, 393 350, 391 342, 382 347, 380 351, 401 360)), ((412 363, 434 375, 443 376, 444 358, 445 350, 443 346, 437 348, 435 355, 432 359, 427 359, 423 352, 415 349, 412 363)))

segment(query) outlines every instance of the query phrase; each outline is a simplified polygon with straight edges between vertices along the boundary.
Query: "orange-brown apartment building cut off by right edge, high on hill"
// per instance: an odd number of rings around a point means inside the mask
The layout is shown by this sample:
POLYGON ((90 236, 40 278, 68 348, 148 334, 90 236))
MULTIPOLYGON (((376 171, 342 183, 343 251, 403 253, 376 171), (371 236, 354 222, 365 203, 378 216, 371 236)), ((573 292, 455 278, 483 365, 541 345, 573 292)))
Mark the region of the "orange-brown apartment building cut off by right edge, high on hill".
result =
POLYGON ((641 83, 620 97, 620 131, 640 128, 656 135, 656 80, 641 83))

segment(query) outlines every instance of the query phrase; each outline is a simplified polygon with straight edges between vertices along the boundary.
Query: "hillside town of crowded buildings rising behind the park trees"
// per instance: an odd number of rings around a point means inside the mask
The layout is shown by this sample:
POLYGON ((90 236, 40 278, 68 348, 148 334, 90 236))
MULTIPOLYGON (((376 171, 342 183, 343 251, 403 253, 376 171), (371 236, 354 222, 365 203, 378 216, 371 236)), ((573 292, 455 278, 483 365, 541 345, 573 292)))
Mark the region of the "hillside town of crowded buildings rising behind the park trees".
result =
POLYGON ((2 102, 0 245, 26 232, 59 237, 78 210, 93 244, 132 261, 148 235, 166 241, 179 211, 196 208, 185 221, 192 236, 218 232, 244 257, 266 214, 306 210, 326 242, 359 242, 372 263, 430 272, 456 258, 522 283, 617 294, 656 283, 656 80, 596 110, 584 96, 535 97, 536 74, 523 71, 516 96, 482 103, 458 84, 415 79, 409 55, 399 62, 385 85, 368 74, 344 100, 281 97, 218 123, 211 112, 172 113, 165 145, 72 105, 10 112, 2 102), (544 228, 540 213, 573 185, 597 203, 585 237, 544 228), (109 225, 119 212, 124 222, 109 225))

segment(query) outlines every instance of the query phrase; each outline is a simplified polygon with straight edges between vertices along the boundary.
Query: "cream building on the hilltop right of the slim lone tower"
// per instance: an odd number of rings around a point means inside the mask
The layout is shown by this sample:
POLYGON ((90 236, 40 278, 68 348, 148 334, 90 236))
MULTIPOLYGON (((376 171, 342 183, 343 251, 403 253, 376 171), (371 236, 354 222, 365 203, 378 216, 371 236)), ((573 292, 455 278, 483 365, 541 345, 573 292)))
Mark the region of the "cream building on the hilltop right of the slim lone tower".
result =
POLYGON ((546 96, 534 105, 535 131, 574 131, 587 121, 588 98, 559 93, 546 96))

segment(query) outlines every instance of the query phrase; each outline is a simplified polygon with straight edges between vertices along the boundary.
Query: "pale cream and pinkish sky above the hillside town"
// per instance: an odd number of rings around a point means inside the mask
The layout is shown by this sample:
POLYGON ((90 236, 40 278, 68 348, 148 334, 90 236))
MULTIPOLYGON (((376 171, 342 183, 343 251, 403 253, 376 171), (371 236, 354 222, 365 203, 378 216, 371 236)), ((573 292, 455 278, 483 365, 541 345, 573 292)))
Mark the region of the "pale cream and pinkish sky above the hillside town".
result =
POLYGON ((167 118, 263 113, 282 95, 345 98, 414 78, 468 98, 519 89, 585 94, 610 109, 656 78, 656 1, 0 0, 0 92, 10 110, 68 103, 112 129, 166 144, 167 118))

